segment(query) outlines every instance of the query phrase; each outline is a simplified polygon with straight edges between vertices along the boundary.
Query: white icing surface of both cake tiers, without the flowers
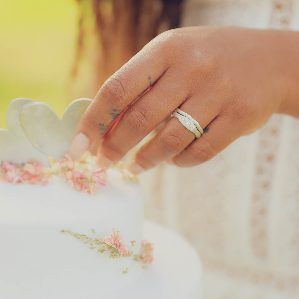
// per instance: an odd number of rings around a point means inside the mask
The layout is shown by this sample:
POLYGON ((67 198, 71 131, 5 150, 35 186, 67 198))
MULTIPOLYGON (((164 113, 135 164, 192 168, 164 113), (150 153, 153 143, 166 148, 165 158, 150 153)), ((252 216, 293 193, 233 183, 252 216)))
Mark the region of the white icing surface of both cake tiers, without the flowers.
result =
POLYGON ((173 231, 146 222, 144 237, 154 243, 155 254, 147 270, 132 258, 111 259, 59 233, 69 228, 92 236, 94 228, 105 237, 114 227, 125 244, 137 241, 139 253, 141 188, 109 172, 108 184, 95 196, 74 192, 60 178, 47 187, 0 184, 1 298, 202 298, 200 260, 173 231))

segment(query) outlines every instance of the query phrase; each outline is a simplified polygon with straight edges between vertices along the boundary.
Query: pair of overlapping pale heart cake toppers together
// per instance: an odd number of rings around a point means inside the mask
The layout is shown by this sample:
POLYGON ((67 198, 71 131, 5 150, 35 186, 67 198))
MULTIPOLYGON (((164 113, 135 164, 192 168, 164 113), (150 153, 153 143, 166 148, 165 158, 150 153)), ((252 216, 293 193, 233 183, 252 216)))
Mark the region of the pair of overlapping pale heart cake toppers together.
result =
POLYGON ((75 137, 76 127, 90 99, 73 101, 62 119, 45 103, 16 98, 7 108, 8 130, 0 129, 0 164, 37 162, 45 166, 48 157, 64 158, 75 137))

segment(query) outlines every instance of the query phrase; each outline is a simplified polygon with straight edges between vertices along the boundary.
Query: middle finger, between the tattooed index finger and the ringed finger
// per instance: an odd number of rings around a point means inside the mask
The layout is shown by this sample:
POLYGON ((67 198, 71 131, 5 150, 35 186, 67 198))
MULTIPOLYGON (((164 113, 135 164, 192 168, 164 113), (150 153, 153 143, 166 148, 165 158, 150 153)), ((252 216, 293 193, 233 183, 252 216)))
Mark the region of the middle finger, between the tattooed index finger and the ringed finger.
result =
POLYGON ((166 71, 151 90, 133 103, 105 135, 98 151, 99 167, 117 163, 185 100, 187 90, 178 87, 169 72, 166 71))

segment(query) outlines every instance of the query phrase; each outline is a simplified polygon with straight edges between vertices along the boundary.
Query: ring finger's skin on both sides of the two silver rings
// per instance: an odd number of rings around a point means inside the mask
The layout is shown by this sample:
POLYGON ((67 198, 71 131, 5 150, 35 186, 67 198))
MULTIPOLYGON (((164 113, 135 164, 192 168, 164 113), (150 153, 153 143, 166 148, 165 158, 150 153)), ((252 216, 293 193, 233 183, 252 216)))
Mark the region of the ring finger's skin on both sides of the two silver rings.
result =
MULTIPOLYGON (((181 109, 199 122, 205 128, 219 113, 217 105, 199 107, 198 99, 189 98, 181 109)), ((165 126, 144 146, 142 146, 132 161, 128 164, 128 170, 133 174, 155 167, 157 164, 176 156, 184 150, 193 140, 195 134, 184 127, 180 121, 172 117, 165 126)))

